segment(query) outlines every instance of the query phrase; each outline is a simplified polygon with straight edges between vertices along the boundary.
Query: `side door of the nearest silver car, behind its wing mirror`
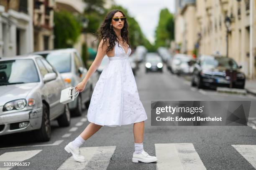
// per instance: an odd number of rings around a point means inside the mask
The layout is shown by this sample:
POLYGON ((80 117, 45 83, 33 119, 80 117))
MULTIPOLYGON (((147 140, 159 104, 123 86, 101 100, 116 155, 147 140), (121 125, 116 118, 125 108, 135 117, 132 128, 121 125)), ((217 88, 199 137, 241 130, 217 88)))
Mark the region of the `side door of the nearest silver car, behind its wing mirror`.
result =
POLYGON ((58 76, 57 71, 49 64, 45 59, 41 59, 46 70, 50 73, 56 73, 57 78, 49 82, 50 91, 52 92, 52 107, 54 108, 54 116, 60 115, 64 111, 64 105, 60 103, 61 90, 65 88, 64 83, 60 76, 58 76))

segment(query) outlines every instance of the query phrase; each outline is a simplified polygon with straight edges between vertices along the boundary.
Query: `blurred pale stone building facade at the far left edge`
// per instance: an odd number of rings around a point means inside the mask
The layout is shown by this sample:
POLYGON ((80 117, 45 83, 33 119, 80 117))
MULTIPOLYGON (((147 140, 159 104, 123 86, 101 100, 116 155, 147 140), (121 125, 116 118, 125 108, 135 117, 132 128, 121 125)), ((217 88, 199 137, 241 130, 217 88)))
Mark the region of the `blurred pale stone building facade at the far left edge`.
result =
POLYGON ((0 0, 0 57, 33 51, 33 0, 0 0))

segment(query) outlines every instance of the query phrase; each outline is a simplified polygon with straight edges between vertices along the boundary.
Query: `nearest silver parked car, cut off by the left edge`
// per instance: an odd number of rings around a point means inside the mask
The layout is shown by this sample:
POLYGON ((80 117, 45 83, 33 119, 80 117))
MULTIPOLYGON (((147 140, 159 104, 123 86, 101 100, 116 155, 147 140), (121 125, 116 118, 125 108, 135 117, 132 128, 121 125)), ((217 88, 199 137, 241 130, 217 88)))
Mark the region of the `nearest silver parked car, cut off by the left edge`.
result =
POLYGON ((65 83, 39 55, 0 59, 0 135, 33 130, 38 141, 49 141, 51 120, 70 125, 68 105, 61 104, 65 83))

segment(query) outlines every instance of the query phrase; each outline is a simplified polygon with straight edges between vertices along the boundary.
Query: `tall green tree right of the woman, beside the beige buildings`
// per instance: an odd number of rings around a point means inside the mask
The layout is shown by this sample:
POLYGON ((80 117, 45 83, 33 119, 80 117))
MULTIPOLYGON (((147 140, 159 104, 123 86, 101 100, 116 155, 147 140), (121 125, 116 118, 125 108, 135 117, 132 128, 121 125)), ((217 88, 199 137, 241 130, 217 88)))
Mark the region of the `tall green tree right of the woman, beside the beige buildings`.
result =
POLYGON ((167 8, 161 10, 159 23, 155 31, 155 47, 169 47, 170 40, 174 39, 174 19, 172 13, 167 8))

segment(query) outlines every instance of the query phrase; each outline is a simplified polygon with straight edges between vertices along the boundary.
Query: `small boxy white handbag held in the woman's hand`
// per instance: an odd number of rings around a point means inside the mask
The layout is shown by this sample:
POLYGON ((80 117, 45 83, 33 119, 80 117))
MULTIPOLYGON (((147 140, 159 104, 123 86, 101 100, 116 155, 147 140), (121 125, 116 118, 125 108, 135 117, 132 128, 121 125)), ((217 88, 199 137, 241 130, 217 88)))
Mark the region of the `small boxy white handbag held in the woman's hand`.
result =
POLYGON ((61 98, 60 101, 62 104, 66 104, 74 101, 74 99, 78 96, 79 92, 75 92, 75 87, 68 87, 64 90, 61 90, 61 98))

